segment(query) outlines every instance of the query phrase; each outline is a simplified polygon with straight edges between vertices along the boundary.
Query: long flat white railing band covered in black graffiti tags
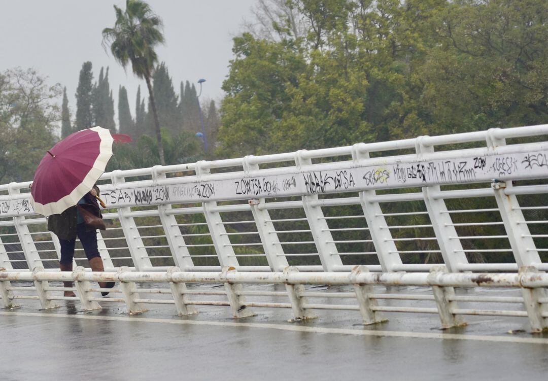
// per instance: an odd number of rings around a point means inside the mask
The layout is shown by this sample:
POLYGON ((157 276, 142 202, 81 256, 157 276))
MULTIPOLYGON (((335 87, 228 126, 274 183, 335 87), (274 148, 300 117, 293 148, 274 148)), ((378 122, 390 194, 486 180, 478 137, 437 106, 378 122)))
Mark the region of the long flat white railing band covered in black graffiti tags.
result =
MULTIPOLYGON (((519 148, 519 147, 518 147, 519 148)), ((316 164, 315 166, 270 170, 269 175, 236 172, 222 179, 169 178, 163 183, 139 181, 101 185, 101 197, 110 207, 131 207, 164 203, 245 200, 246 198, 321 195, 336 192, 390 189, 409 186, 465 184, 493 179, 520 180, 548 177, 548 152, 513 152, 455 157, 458 151, 439 152, 439 160, 398 160, 397 157, 365 159, 361 162, 316 164), (368 163, 377 161, 379 164, 368 163), (316 170, 321 168, 321 170, 316 170), (275 173, 275 174, 272 174, 275 173), (143 185, 145 184, 145 185, 143 185)), ((260 173, 259 171, 258 173, 260 173)), ((32 214, 28 198, 2 196, 0 217, 32 214)))

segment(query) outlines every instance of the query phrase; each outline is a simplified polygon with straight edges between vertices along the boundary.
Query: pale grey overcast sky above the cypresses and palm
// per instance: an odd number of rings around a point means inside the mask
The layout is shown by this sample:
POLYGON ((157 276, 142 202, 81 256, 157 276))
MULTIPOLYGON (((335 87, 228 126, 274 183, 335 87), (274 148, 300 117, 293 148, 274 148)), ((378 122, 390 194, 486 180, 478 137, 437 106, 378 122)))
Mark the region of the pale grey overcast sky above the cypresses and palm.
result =
MULTIPOLYGON (((205 78, 203 99, 222 98, 222 81, 232 59, 232 37, 250 19, 255 0, 148 0, 164 23, 165 46, 157 49, 173 78, 176 94, 180 81, 197 85, 205 78)), ((115 23, 113 4, 125 9, 125 0, 0 0, 0 71, 33 67, 50 83, 67 87, 72 116, 76 112, 78 74, 84 61, 92 61, 94 79, 101 66, 110 66, 109 82, 115 96, 118 86, 128 89, 134 115, 137 86, 145 81, 127 72, 101 47, 101 31, 115 23)), ((199 85, 197 85, 199 91, 199 85)), ((116 122, 118 117, 116 115, 116 122)))

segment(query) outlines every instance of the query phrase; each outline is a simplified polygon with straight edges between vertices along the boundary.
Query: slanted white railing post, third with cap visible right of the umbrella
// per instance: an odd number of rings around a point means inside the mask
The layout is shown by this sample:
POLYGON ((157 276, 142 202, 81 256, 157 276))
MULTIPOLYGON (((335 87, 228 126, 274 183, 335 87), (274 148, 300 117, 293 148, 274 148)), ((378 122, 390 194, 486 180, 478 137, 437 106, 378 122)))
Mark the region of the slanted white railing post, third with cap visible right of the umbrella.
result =
MULTIPOLYGON (((206 161, 196 163, 196 177, 202 180, 204 175, 209 174, 206 161)), ((226 235, 225 225, 222 223, 221 214, 212 211, 217 206, 215 201, 203 201, 204 217, 211 234, 211 239, 215 247, 217 257, 221 267, 238 266, 238 260, 235 257, 234 249, 231 246, 229 236, 226 235)))

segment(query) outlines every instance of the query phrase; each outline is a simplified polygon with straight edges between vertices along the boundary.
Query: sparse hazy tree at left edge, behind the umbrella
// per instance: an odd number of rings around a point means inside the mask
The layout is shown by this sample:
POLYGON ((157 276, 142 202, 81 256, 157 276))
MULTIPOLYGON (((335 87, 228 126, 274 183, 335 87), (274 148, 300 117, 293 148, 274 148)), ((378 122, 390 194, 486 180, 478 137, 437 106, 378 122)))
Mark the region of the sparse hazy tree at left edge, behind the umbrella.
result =
POLYGON ((59 84, 32 69, 0 73, 0 184, 32 180, 61 120, 59 84))

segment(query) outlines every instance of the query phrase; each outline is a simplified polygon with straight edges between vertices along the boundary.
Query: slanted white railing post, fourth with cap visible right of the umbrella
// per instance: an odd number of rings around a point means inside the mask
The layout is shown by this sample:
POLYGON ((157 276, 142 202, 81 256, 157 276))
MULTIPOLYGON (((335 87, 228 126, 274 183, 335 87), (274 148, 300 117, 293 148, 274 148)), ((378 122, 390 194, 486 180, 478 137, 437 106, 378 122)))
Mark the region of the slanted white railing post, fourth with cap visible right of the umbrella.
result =
MULTIPOLYGON (((243 158, 243 170, 244 173, 250 174, 254 170, 259 170, 259 165, 250 162, 253 155, 249 155, 243 158)), ((276 228, 270 218, 270 213, 267 209, 261 209, 261 205, 265 204, 264 198, 256 198, 249 200, 249 206, 253 213, 253 219, 259 237, 261 238, 262 248, 265 251, 266 260, 269 262, 270 269, 272 271, 283 271, 284 268, 289 266, 287 258, 284 255, 283 247, 279 243, 278 234, 276 228)))

